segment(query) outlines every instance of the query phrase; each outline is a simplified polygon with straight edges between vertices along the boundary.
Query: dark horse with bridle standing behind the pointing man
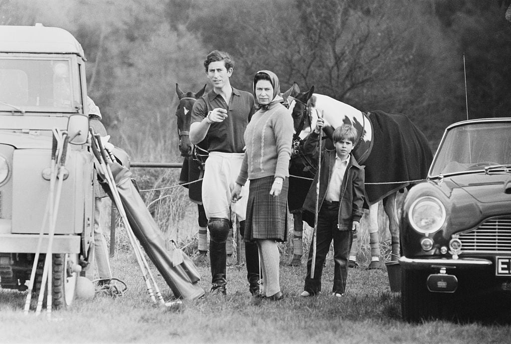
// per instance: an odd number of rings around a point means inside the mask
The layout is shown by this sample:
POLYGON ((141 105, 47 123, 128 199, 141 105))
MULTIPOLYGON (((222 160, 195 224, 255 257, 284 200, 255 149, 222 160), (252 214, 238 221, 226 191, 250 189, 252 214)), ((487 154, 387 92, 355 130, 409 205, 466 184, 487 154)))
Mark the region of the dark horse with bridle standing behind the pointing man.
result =
MULTIPOLYGON (((199 237, 201 235, 205 236, 207 241, 207 218, 204 207, 202 206, 202 181, 200 181, 203 174, 203 163, 207 158, 207 151, 200 148, 200 145, 194 146, 190 142, 189 137, 192 107, 195 101, 204 94, 205 89, 206 85, 204 85, 204 87, 197 93, 183 92, 179 88, 179 85, 176 84, 176 93, 179 98, 179 105, 176 110, 177 134, 179 135, 179 151, 181 152, 181 156, 184 157, 181 175, 179 176, 179 184, 184 184, 184 187, 188 188, 190 201, 197 204, 199 213, 199 237), (192 183, 194 181, 197 182, 192 183)), ((199 251, 204 251, 202 253, 202 258, 204 259, 205 252, 207 252, 207 246, 199 247, 199 251)))

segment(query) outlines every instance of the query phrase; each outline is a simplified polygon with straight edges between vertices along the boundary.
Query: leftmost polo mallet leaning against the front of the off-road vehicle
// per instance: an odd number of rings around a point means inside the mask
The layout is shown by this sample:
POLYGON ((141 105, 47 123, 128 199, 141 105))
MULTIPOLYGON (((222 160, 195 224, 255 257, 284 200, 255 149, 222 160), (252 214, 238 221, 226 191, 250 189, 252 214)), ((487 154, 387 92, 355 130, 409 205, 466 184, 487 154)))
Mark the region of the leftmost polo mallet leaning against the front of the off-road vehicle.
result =
POLYGON ((44 217, 42 219, 41 230, 39 231, 39 238, 37 240, 37 248, 35 250, 34 263, 32 264, 32 272, 30 274, 28 294, 27 294, 27 299, 25 301, 25 309, 24 309, 25 314, 29 313, 30 302, 32 301, 32 291, 34 289, 35 275, 37 272, 39 255, 41 253, 42 238, 44 236, 44 227, 47 225, 46 222, 48 220, 50 211, 53 212, 53 193, 54 193, 54 189, 55 189, 55 179, 57 178, 56 156, 57 156, 57 146, 59 144, 60 144, 60 138, 57 137, 54 132, 53 139, 52 139, 52 156, 51 156, 51 163, 50 163, 50 192, 48 193, 46 209, 44 210, 44 217))

